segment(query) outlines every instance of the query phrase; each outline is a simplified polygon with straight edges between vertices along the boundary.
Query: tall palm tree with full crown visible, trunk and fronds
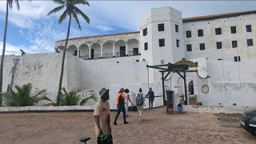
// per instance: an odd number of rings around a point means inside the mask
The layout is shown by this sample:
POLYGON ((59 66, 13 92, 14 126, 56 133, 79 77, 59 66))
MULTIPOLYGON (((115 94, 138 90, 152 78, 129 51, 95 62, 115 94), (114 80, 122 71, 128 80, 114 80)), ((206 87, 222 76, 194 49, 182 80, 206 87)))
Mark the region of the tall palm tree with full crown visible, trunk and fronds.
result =
POLYGON ((60 98, 61 98, 62 78, 63 78, 63 71, 64 71, 66 46, 67 46, 67 42, 68 42, 69 36, 70 36, 71 18, 73 16, 74 21, 78 24, 78 27, 81 30, 80 22, 78 20, 78 15, 82 16, 82 18, 85 19, 87 23, 90 23, 90 19, 86 16, 86 14, 83 14, 82 11, 79 10, 76 5, 78 5, 78 4, 87 5, 87 6, 90 6, 90 5, 87 2, 87 0, 53 0, 53 1, 61 6, 54 8, 54 10, 51 10, 48 15, 57 13, 58 11, 65 8, 63 14, 58 19, 59 24, 62 23, 67 16, 69 16, 69 25, 68 25, 68 29, 67 29, 66 42, 65 42, 65 47, 64 47, 63 56, 62 56, 62 70, 61 70, 61 76, 59 78, 59 84, 58 84, 58 96, 57 96, 56 105, 59 106, 59 102, 60 102, 60 98))

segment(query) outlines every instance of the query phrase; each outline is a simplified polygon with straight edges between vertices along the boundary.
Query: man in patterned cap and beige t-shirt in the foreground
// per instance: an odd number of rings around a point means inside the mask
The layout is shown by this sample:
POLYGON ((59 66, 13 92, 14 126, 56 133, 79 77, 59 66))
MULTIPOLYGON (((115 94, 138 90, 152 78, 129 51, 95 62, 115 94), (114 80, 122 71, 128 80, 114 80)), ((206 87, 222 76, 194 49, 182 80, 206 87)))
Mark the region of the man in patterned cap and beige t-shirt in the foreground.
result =
POLYGON ((109 91, 110 90, 107 90, 106 88, 102 88, 102 90, 99 91, 101 99, 98 100, 94 106, 95 131, 98 137, 98 144, 106 143, 101 140, 102 134, 110 134, 111 141, 108 141, 107 143, 113 143, 112 135, 110 133, 110 103, 107 101, 110 99, 109 91))

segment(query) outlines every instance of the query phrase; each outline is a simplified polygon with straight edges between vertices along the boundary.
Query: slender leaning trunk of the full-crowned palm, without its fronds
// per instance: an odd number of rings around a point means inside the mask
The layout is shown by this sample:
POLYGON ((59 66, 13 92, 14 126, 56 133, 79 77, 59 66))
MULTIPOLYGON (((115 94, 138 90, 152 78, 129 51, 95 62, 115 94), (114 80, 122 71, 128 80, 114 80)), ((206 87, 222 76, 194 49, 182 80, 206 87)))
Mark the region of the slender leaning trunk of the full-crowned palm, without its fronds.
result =
POLYGON ((63 72, 64 72, 64 62, 65 62, 65 56, 66 56, 66 46, 67 42, 69 41, 69 36, 70 36, 70 24, 71 24, 71 14, 70 15, 70 22, 69 26, 67 29, 67 34, 66 34, 66 43, 63 51, 63 56, 62 56, 62 72, 61 72, 61 77, 59 78, 59 85, 58 85, 58 96, 57 96, 57 103, 56 105, 59 106, 60 98, 61 98, 61 90, 62 90, 62 78, 63 78, 63 72))

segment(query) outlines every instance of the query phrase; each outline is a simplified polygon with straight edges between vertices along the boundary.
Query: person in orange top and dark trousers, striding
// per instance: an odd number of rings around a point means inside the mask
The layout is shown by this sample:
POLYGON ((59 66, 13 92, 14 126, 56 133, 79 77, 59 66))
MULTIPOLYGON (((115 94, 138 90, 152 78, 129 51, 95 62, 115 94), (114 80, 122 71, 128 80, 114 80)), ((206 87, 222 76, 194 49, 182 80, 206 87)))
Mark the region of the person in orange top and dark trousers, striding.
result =
POLYGON ((125 107, 126 95, 123 92, 124 92, 124 89, 121 88, 120 91, 118 92, 118 95, 117 95, 116 102, 117 102, 117 106, 118 106, 118 113, 115 115, 114 125, 117 125, 118 116, 119 116, 121 111, 122 111, 122 114, 123 114, 123 123, 124 124, 128 123, 128 122, 126 122, 126 107, 125 107))

